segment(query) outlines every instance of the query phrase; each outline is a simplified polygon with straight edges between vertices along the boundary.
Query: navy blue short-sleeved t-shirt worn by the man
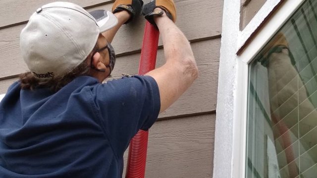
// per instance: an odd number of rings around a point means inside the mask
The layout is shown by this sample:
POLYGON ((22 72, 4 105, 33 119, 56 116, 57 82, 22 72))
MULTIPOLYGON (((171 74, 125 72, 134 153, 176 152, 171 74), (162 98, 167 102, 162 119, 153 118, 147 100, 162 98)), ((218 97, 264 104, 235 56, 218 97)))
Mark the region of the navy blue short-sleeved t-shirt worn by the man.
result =
POLYGON ((55 93, 16 82, 0 103, 0 177, 120 178, 130 139, 159 109, 150 76, 82 76, 55 93))

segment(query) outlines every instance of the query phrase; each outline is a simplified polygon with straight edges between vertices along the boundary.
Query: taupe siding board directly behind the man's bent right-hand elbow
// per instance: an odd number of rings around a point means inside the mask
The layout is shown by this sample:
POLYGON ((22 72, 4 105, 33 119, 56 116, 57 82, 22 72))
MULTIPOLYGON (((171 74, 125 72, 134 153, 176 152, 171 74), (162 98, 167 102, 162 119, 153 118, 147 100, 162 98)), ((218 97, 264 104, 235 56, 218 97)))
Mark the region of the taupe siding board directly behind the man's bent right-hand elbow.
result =
MULTIPOLYGON (((200 72, 194 84, 159 118, 215 111, 218 86, 218 66, 220 39, 205 40, 191 43, 200 72)), ((158 50, 157 67, 164 62, 163 49, 158 50)), ((120 78, 122 74, 138 73, 140 53, 119 56, 112 72, 112 78, 120 78)), ((17 78, 0 81, 1 93, 17 78)), ((111 80, 111 78, 109 79, 111 80)))

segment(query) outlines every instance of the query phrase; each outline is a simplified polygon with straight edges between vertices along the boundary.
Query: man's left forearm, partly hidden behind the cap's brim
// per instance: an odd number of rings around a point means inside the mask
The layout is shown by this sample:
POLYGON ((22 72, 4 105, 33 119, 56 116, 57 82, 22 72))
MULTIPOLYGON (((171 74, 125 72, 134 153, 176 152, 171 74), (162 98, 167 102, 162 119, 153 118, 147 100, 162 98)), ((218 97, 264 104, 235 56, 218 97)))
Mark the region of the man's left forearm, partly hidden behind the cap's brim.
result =
POLYGON ((114 13, 114 15, 117 17, 118 19, 118 24, 111 28, 110 30, 102 33, 102 35, 105 36, 106 40, 111 43, 115 34, 118 32, 119 28, 130 18, 130 14, 125 11, 125 10, 122 10, 120 12, 116 12, 114 13))

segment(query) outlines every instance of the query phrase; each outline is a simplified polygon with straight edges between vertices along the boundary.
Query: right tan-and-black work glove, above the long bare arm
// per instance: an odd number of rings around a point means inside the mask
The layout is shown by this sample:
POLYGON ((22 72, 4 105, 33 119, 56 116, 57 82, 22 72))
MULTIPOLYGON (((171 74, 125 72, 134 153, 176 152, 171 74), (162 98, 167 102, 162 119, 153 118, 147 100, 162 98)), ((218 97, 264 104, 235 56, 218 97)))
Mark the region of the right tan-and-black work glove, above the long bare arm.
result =
POLYGON ((176 7, 173 0, 152 0, 144 5, 142 14, 154 26, 157 26, 154 21, 154 16, 163 15, 163 11, 154 11, 155 8, 161 8, 165 11, 168 18, 174 23, 176 21, 176 7))

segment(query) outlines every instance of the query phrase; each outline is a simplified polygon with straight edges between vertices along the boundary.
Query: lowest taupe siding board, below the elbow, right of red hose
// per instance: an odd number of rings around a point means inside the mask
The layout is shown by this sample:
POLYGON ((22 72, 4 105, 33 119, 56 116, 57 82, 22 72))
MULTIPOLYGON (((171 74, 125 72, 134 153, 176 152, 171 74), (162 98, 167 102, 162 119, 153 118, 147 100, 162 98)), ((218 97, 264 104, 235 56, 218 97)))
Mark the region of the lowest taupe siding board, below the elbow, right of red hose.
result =
POLYGON ((211 178, 214 124, 215 114, 156 122, 149 131, 145 177, 211 178))

